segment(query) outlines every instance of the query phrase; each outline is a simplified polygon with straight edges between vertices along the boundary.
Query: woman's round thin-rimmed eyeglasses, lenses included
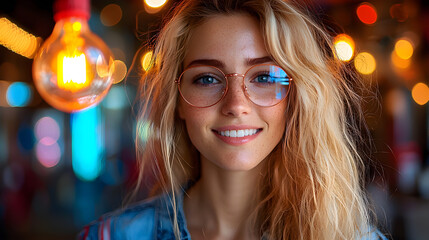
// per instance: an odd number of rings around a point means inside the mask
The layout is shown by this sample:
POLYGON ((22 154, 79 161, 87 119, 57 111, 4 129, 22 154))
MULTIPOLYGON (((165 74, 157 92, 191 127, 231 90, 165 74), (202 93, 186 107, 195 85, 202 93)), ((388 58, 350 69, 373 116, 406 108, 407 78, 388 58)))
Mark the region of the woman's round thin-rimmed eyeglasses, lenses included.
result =
POLYGON ((211 107, 228 92, 228 77, 242 77, 246 97, 254 104, 271 107, 286 98, 292 78, 272 64, 252 66, 243 74, 224 74, 213 66, 192 66, 175 81, 182 98, 191 106, 211 107))

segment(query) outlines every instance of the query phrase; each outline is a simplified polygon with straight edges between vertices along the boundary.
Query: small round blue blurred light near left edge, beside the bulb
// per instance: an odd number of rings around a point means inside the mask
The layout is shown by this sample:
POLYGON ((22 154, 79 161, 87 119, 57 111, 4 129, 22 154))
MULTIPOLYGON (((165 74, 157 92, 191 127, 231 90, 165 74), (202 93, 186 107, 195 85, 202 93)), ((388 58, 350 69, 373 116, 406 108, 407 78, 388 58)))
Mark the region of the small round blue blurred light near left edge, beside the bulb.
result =
POLYGON ((32 92, 27 83, 14 82, 6 91, 6 101, 11 107, 24 107, 31 100, 32 92))

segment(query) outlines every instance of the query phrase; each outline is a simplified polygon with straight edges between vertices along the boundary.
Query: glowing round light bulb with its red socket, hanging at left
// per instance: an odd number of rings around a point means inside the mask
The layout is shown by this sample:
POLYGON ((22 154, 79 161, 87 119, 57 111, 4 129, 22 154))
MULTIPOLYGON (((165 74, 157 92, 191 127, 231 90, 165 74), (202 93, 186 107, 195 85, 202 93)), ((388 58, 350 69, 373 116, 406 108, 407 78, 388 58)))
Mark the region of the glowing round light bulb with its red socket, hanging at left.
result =
POLYGON ((106 96, 113 82, 113 56, 89 29, 89 0, 57 0, 54 11, 52 35, 34 58, 34 83, 51 106, 76 112, 106 96))

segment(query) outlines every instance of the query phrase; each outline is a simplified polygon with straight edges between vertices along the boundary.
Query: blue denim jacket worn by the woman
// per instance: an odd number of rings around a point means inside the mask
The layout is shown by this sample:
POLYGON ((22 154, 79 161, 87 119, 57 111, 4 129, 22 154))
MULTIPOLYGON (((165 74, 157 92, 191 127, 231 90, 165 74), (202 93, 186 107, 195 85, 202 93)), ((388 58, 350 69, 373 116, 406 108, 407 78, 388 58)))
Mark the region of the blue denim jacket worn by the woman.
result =
MULTIPOLYGON (((177 194, 177 217, 181 240, 191 239, 186 227, 183 212, 183 192, 177 194)), ((79 233, 79 240, 174 240, 173 205, 168 194, 163 194, 103 215, 97 221, 84 227, 79 233)), ((269 239, 263 237, 262 239, 269 239)), ((379 231, 372 231, 370 236, 361 240, 387 240, 379 231)))

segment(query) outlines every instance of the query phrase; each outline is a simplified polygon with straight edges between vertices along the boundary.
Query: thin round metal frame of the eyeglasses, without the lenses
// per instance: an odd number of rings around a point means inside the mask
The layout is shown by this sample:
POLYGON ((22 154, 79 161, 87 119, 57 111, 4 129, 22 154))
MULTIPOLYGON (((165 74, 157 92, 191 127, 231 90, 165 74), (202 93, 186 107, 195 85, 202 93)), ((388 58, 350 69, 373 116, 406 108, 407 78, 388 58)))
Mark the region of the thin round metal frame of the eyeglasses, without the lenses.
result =
POLYGON ((283 71, 286 73, 286 75, 287 75, 287 79, 289 80, 289 85, 292 83, 292 80, 293 80, 293 79, 292 79, 292 77, 290 77, 290 76, 289 76, 289 73, 288 73, 288 72, 286 72, 286 70, 284 70, 282 67, 280 67, 280 66, 278 66, 278 65, 275 65, 275 64, 264 64, 264 63, 263 63, 263 64, 256 64, 256 65, 251 66, 249 69, 247 69, 247 70, 246 70, 246 72, 245 72, 244 74, 240 74, 240 73, 229 73, 229 74, 225 74, 222 70, 220 70, 218 67, 215 67, 215 66, 211 66, 211 65, 194 65, 194 66, 187 67, 185 70, 183 70, 183 71, 182 71, 182 73, 180 74, 180 76, 179 76, 178 78, 176 78, 176 79, 174 80, 174 82, 177 84, 177 89, 179 90, 179 94, 180 94, 180 96, 182 97, 182 99, 183 99, 183 100, 185 100, 185 102, 186 102, 186 103, 188 103, 189 105, 191 105, 192 107, 195 107, 195 108, 208 108, 208 107, 212 107, 212 106, 214 106, 214 105, 218 104, 220 101, 222 101, 222 99, 224 99, 224 98, 225 98, 225 96, 226 96, 226 94, 228 93, 228 90, 229 90, 229 81, 228 81, 228 77, 241 77, 241 78, 243 79, 243 80, 242 80, 242 88, 243 88, 244 95, 245 95, 245 96, 246 96, 246 98, 247 98, 250 102, 252 102, 253 104, 255 104, 255 105, 259 106, 259 107, 274 107, 274 106, 276 106, 276 105, 280 104, 281 102, 283 102, 283 101, 288 97, 289 92, 290 92, 290 90, 289 90, 290 86, 289 86, 289 88, 287 89, 287 93, 286 93, 286 95, 284 96, 284 98, 283 98, 282 100, 280 100, 278 103, 274 104, 274 105, 270 105, 270 106, 262 106, 262 105, 259 105, 259 104, 255 103, 255 102, 250 98, 249 93, 248 93, 248 91, 247 91, 247 86, 246 86, 246 84, 244 83, 244 79, 245 79, 245 77, 246 77, 246 74, 247 74, 250 70, 252 70, 253 68, 255 68, 255 67, 257 67, 257 66, 274 66, 274 67, 278 67, 278 68, 280 68, 281 70, 283 70, 283 71), (194 105, 194 104, 190 103, 190 102, 189 102, 189 101, 188 101, 188 100, 183 96, 182 91, 180 90, 180 82, 181 82, 180 80, 182 79, 183 74, 184 74, 187 70, 192 69, 192 68, 196 68, 196 67, 211 67, 211 68, 214 68, 214 69, 218 70, 219 72, 221 72, 221 73, 223 74, 223 76, 224 76, 225 80, 226 80, 226 86, 225 86, 225 89, 223 90, 222 97, 221 97, 219 100, 217 100, 215 103, 213 103, 213 104, 211 104, 211 105, 209 105, 209 106, 199 107, 199 106, 196 106, 196 105, 194 105))

